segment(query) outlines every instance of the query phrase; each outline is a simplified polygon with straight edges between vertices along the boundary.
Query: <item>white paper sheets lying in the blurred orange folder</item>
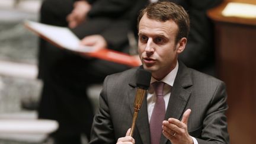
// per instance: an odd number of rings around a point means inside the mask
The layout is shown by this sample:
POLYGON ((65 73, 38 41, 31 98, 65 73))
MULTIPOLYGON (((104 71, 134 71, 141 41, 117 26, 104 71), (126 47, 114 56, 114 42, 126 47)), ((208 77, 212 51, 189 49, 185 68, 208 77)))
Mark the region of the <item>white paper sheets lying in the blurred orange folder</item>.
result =
POLYGON ((52 40, 59 46, 76 52, 92 52, 92 47, 81 46, 80 40, 67 27, 41 24, 34 21, 25 21, 25 25, 37 31, 47 39, 52 40))

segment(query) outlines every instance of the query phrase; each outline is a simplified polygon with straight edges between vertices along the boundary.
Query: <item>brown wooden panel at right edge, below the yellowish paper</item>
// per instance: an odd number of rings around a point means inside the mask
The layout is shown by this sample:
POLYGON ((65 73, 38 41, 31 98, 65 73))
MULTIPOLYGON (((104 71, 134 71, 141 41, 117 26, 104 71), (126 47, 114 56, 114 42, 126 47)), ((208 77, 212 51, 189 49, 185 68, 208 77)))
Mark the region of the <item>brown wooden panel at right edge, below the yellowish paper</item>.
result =
POLYGON ((255 143, 256 27, 216 23, 216 63, 228 91, 231 143, 255 143))

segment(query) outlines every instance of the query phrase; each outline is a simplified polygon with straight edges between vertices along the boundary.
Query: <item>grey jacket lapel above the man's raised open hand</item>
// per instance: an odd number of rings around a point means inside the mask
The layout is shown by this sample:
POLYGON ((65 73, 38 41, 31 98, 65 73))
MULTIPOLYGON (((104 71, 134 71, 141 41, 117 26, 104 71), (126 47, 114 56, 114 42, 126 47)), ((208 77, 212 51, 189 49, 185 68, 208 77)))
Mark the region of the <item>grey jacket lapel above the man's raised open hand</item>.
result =
MULTIPOLYGON (((165 113, 165 120, 170 117, 181 120, 185 111, 185 106, 190 98, 191 91, 187 88, 193 85, 189 69, 181 62, 179 62, 179 69, 171 88, 171 96, 169 98, 167 111, 165 113)), ((161 136, 161 144, 167 143, 167 138, 161 136)))

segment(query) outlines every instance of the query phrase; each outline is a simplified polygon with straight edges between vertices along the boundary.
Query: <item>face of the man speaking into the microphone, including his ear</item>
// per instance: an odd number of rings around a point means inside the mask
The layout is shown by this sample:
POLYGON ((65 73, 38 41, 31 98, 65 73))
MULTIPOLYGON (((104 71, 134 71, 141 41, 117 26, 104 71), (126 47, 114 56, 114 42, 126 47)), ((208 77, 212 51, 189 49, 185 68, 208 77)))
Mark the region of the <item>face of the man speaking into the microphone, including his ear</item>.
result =
POLYGON ((175 43, 178 25, 149 19, 146 14, 139 22, 139 56, 144 69, 158 80, 164 78, 177 63, 178 54, 185 47, 186 39, 175 43))

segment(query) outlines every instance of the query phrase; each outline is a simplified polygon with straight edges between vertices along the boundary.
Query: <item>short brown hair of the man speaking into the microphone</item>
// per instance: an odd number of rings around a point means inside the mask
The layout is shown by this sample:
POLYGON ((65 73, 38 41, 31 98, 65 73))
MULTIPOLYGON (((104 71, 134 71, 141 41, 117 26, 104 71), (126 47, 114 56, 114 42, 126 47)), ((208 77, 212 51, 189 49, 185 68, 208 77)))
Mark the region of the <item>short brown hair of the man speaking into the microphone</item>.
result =
POLYGON ((137 27, 143 15, 146 14, 149 19, 158 21, 173 20, 178 25, 178 32, 175 42, 177 43, 181 38, 187 37, 190 29, 190 20, 187 12, 180 5, 168 1, 159 1, 149 4, 142 9, 137 18, 137 27))

